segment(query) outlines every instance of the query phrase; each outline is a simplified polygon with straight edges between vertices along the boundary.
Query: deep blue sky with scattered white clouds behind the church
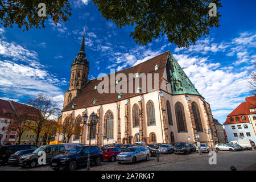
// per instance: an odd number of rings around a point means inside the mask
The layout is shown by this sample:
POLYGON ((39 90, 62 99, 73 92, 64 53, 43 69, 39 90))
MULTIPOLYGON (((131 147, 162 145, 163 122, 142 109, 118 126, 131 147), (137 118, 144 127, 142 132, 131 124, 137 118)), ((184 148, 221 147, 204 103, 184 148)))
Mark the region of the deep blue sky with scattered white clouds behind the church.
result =
POLYGON ((222 1, 222 6, 221 26, 189 48, 177 48, 166 36, 139 46, 129 36, 133 27, 115 27, 88 0, 72 1, 70 20, 57 26, 49 20, 46 28, 25 32, 0 27, 0 98, 26 102, 47 93, 61 105, 86 27, 89 79, 170 50, 211 105, 214 118, 223 123, 250 96, 248 79, 256 59, 256 2, 222 1))

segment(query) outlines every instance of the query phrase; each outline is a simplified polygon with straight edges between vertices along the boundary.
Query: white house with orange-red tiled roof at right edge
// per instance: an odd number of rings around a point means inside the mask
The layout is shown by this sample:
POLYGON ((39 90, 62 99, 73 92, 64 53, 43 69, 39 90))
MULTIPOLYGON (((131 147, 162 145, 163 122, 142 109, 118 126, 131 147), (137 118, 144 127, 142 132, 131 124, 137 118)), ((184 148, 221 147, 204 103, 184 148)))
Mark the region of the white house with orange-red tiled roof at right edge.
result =
POLYGON ((237 139, 250 139, 256 143, 253 115, 256 114, 253 97, 247 97, 236 109, 226 118, 224 123, 229 142, 237 139))

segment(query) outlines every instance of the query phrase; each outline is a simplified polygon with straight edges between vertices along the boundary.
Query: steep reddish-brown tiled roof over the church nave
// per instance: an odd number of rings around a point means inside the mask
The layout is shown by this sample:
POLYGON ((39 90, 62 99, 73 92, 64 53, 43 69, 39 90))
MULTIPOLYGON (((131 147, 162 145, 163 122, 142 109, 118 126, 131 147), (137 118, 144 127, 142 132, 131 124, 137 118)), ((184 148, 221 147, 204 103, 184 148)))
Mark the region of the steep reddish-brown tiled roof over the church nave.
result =
MULTIPOLYGON (((151 58, 150 60, 144 61, 141 64, 135 65, 134 67, 130 67, 127 69, 123 69, 122 71, 115 72, 115 75, 118 73, 124 73, 127 77, 127 80, 129 78, 129 73, 159 73, 159 87, 162 83, 162 76, 164 69, 166 68, 166 61, 168 58, 168 53, 164 52, 156 57, 151 58), (159 68, 155 71, 155 65, 158 65, 159 68)), ((110 90, 110 75, 109 77, 109 90, 110 90)), ((101 82, 101 80, 90 80, 85 87, 82 89, 81 93, 72 99, 71 102, 62 111, 68 111, 68 110, 73 110, 73 109, 82 109, 85 107, 91 107, 91 106, 97 106, 97 105, 102 105, 102 104, 108 104, 108 103, 113 103, 121 100, 127 100, 127 98, 134 97, 134 96, 139 96, 142 93, 122 93, 122 97, 118 99, 118 93, 98 93, 98 90, 94 90, 94 86, 98 85, 101 82), (96 104, 93 104, 93 100, 96 99, 97 102, 96 104), (72 105, 76 104, 74 108, 72 108, 72 105)), ((129 84, 128 81, 126 82, 127 84, 127 91, 129 90, 129 84)), ((141 87, 141 81, 140 81, 140 87, 141 87)), ((133 89, 135 88, 135 81, 133 80, 133 89)), ((157 88, 156 90, 158 90, 157 88)), ((154 74, 152 74, 152 89, 148 91, 154 90, 154 74)))

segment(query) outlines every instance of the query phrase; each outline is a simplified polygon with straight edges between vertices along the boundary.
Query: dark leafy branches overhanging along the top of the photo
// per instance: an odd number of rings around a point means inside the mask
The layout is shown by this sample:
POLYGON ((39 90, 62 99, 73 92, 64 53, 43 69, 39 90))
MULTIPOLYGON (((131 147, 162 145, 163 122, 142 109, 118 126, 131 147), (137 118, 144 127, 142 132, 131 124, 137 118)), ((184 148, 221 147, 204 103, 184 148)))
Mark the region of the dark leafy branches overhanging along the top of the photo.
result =
MULTIPOLYGON (((71 15, 72 1, 49 0, 3 0, 0 1, 0 21, 4 27, 46 27, 45 21, 52 19, 57 25, 67 21, 71 15), (38 15, 38 4, 45 3, 46 16, 38 15)), ((146 45, 152 39, 166 35, 168 41, 179 47, 195 44, 201 36, 209 34, 210 28, 219 26, 220 0, 93 0, 102 17, 112 20, 119 28, 134 26, 130 33, 136 43, 146 45), (214 6, 210 6, 214 3, 214 6), (216 9, 216 16, 209 11, 216 9)))

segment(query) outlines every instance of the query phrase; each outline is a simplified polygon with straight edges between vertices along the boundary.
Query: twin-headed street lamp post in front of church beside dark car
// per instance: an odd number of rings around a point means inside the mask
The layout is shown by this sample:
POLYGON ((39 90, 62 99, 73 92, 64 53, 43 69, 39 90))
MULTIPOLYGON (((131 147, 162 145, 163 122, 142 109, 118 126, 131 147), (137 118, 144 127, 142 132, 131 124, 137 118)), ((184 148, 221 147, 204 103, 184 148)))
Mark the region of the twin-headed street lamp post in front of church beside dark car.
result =
POLYGON ((88 121, 88 115, 85 113, 82 116, 82 121, 84 124, 90 127, 90 135, 89 135, 89 150, 88 150, 88 158, 87 158, 87 168, 86 170, 90 170, 90 138, 92 137, 92 127, 93 125, 97 125, 98 123, 98 116, 94 112, 90 114, 90 123, 88 121))

